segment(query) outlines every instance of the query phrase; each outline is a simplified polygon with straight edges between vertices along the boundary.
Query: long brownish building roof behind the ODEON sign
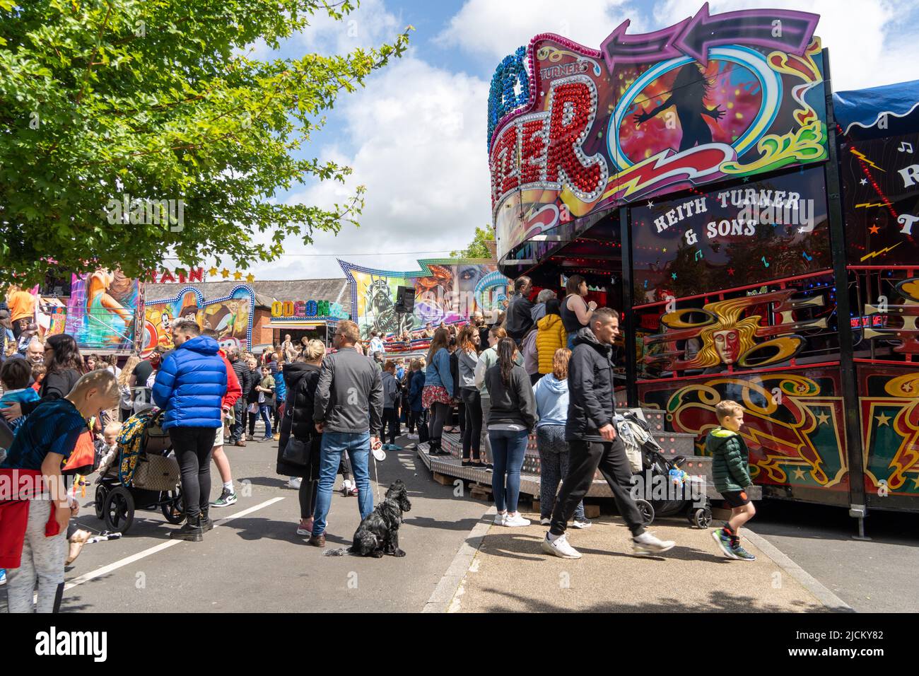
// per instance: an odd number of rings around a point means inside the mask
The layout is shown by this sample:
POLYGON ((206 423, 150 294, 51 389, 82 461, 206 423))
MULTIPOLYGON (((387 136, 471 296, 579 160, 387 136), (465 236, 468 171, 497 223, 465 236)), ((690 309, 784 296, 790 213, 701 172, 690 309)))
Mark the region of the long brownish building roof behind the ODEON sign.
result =
MULTIPOLYGON (((204 299, 222 298, 229 295, 242 281, 205 281, 185 284, 147 284, 144 299, 147 303, 175 298, 187 286, 193 286, 204 294, 204 299)), ((271 307, 274 301, 328 301, 350 304, 351 296, 344 277, 325 280, 266 280, 249 284, 255 291, 255 304, 271 307)))

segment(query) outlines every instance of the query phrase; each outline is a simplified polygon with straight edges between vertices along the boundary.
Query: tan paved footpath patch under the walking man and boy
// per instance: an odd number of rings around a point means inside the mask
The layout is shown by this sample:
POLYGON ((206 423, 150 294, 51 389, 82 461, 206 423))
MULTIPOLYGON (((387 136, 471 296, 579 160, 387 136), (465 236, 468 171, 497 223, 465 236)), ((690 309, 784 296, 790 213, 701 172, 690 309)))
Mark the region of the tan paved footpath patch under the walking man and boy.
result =
MULTIPOLYGON (((569 541, 584 555, 572 560, 543 553, 539 544, 547 527, 539 525, 539 514, 524 515, 535 525, 487 528, 448 612, 830 610, 815 595, 821 593, 819 585, 809 590, 749 540, 744 546, 757 560, 730 561, 718 553, 711 531, 687 527, 685 520, 655 522, 652 533, 677 544, 663 556, 639 558, 629 554, 630 533, 621 519, 595 519, 591 528, 569 530, 569 541)), ((835 608, 845 609, 832 595, 828 598, 835 608)))

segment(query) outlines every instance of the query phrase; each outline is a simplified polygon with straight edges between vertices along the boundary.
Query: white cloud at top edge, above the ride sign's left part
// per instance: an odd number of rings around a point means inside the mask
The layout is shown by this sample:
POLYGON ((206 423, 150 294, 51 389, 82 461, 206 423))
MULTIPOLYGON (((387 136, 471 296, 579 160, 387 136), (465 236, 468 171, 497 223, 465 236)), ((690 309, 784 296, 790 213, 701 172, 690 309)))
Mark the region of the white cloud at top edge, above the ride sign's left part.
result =
POLYGON ((638 4, 629 0, 568 0, 561 5, 555 0, 468 0, 436 40, 492 58, 497 65, 539 33, 557 33, 598 50, 626 18, 631 19, 630 32, 644 32, 638 4))

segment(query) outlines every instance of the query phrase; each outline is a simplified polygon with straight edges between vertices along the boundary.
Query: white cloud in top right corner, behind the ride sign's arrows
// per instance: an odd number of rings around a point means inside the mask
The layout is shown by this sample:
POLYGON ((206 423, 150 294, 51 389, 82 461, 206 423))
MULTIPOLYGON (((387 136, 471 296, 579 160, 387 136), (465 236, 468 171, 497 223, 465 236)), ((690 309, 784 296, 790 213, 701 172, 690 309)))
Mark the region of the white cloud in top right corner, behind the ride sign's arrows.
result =
MULTIPOLYGON (((666 0, 655 6, 656 28, 696 14, 699 0, 666 0)), ((709 12, 738 9, 797 9, 820 15, 816 33, 830 50, 834 91, 914 80, 919 58, 916 33, 905 32, 903 17, 913 0, 709 0, 709 12)))

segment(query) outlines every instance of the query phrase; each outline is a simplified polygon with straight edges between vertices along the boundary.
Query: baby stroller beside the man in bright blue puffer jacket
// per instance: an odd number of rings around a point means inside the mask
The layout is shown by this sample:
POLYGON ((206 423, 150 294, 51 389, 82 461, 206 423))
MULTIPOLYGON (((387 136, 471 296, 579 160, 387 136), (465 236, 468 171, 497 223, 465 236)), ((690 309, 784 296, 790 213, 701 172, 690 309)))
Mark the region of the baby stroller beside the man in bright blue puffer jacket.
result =
POLYGON ((135 510, 160 510, 170 523, 185 520, 181 475, 163 416, 147 407, 125 420, 115 462, 96 480, 96 517, 111 532, 127 533, 135 510))

